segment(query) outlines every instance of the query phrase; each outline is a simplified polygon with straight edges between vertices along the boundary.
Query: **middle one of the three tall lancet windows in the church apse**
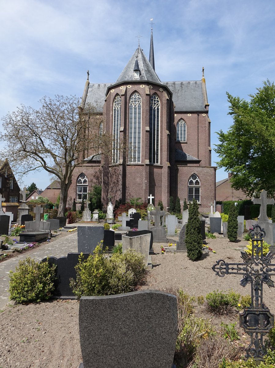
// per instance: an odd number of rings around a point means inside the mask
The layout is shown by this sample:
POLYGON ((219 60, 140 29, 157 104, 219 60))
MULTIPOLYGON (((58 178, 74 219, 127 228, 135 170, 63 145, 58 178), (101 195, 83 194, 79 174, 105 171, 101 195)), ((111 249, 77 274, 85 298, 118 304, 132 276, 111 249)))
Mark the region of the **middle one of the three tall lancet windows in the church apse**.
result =
POLYGON ((141 162, 141 96, 138 93, 130 97, 129 162, 141 162))

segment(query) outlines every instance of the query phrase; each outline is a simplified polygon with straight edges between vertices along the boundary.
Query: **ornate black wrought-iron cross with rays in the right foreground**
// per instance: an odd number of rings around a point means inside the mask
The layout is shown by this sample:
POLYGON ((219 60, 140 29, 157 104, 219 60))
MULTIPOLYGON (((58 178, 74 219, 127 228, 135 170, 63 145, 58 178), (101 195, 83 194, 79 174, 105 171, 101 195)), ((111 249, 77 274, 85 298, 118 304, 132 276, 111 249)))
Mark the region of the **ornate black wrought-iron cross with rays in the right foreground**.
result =
POLYGON ((241 252, 243 263, 227 263, 220 259, 212 269, 220 277, 228 274, 243 275, 240 280, 241 286, 250 284, 251 305, 240 313, 240 327, 250 336, 246 357, 260 361, 267 353, 263 336, 274 327, 274 314, 270 313, 263 302, 263 284, 267 284, 269 288, 274 287, 271 276, 275 275, 275 263, 271 261, 275 254, 268 252, 266 256, 263 255, 265 231, 258 224, 249 231, 249 236, 252 238, 252 255, 241 252))

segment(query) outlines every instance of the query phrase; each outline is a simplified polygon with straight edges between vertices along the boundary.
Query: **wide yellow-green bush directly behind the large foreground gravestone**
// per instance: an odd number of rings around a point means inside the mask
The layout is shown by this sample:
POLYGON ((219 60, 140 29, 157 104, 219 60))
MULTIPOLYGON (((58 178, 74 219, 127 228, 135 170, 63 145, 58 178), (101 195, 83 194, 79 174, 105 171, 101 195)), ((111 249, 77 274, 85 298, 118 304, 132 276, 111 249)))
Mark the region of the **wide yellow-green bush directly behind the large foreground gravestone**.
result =
POLYGON ((75 269, 76 280, 71 279, 70 286, 77 298, 133 291, 143 279, 146 270, 140 253, 129 250, 106 258, 101 244, 86 261, 81 254, 75 269))

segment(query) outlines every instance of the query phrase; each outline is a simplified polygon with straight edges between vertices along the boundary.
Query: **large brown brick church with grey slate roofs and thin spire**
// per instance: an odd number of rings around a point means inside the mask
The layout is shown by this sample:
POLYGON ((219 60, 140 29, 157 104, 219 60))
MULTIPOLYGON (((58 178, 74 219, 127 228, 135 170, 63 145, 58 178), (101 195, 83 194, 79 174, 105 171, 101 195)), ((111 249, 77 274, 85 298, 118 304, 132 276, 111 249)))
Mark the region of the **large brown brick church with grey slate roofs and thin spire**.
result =
POLYGON ((155 72, 153 34, 149 60, 138 45, 115 83, 87 79, 82 106, 97 106, 102 132, 112 135, 112 155, 83 156, 73 173, 68 204, 87 198, 94 184, 102 185, 102 203, 150 194, 155 205, 180 197, 199 202, 200 212, 214 204, 216 167, 211 166, 210 119, 205 78, 162 82, 155 72), (120 150, 122 142, 127 149, 120 150))

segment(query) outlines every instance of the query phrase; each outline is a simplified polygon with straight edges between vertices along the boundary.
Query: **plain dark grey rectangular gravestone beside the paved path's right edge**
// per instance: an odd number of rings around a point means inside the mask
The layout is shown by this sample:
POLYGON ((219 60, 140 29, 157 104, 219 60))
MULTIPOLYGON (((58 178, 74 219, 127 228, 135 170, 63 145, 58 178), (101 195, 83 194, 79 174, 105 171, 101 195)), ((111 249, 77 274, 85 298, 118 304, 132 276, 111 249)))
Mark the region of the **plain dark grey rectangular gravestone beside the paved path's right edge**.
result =
POLYGON ((95 247, 104 239, 103 226, 78 226, 77 251, 92 254, 95 247))

